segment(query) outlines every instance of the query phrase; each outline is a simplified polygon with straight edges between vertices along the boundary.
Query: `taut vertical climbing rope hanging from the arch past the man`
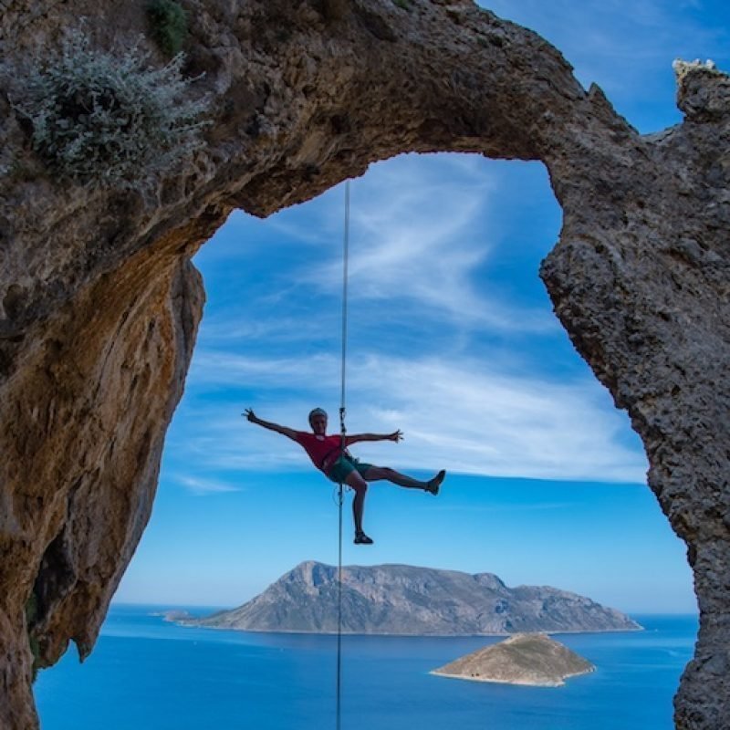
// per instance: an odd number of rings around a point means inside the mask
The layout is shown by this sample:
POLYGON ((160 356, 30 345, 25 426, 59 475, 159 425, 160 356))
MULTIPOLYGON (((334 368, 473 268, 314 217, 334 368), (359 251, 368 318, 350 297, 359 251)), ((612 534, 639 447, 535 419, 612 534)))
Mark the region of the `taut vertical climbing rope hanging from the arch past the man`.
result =
MULTIPOLYGON (((342 236, 342 357, 339 391, 339 447, 345 451, 347 429, 345 428, 345 375, 348 354, 348 264, 349 264, 349 180, 345 183, 345 230, 342 236)), ((341 727, 340 690, 342 687, 342 502, 345 487, 339 482, 339 542, 337 568, 337 700, 335 704, 336 727, 341 727)))

